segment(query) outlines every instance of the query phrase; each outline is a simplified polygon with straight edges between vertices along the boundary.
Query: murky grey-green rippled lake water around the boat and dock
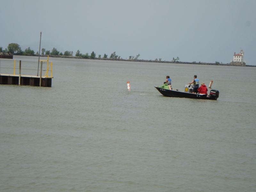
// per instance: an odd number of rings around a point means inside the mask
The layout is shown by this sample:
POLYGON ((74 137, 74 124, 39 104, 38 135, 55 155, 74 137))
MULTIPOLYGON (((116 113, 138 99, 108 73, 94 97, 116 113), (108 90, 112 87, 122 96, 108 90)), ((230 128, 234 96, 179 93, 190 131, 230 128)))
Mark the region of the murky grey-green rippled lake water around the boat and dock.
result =
POLYGON ((0 191, 256 190, 256 68, 50 60, 52 88, 0 85, 0 191))

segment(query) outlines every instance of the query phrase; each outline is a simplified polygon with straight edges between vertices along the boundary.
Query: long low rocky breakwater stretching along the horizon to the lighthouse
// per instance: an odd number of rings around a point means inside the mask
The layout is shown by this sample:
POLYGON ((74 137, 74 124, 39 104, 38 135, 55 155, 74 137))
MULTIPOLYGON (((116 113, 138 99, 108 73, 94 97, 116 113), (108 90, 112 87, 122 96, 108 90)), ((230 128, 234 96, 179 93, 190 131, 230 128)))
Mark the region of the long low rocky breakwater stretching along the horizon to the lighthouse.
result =
MULTIPOLYGON (((15 54, 14 54, 15 55, 15 54)), ((26 56, 39 56, 38 54, 26 56)), ((48 55, 40 55, 40 57, 48 57, 48 55)), ((64 55, 49 55, 49 57, 56 58, 70 58, 70 59, 92 59, 92 60, 117 60, 117 61, 136 61, 136 62, 152 62, 152 63, 180 63, 180 64, 193 64, 193 65, 221 65, 221 66, 243 66, 243 67, 256 67, 255 65, 245 65, 245 63, 205 63, 205 62, 179 62, 179 61, 156 61, 156 60, 132 60, 132 59, 114 59, 114 58, 83 58, 79 56, 64 56, 64 55)))

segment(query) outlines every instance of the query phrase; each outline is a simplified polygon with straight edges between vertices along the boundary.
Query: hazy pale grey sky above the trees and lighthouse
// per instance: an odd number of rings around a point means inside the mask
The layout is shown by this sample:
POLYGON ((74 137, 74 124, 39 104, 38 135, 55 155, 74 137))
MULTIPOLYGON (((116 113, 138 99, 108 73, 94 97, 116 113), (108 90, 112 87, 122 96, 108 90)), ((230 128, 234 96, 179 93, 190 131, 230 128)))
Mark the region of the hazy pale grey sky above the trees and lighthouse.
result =
POLYGON ((256 1, 1 1, 0 46, 256 65, 256 1))

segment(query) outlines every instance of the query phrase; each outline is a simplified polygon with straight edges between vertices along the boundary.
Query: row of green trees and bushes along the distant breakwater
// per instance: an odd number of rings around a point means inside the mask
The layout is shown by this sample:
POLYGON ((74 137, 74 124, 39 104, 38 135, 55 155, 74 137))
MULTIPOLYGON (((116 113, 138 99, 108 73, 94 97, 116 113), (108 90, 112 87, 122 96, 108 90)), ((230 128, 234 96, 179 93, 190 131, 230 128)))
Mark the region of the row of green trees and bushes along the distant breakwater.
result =
MULTIPOLYGON (((5 48, 4 50, 3 50, 3 47, 0 47, 0 52, 3 52, 3 53, 7 53, 8 52, 8 53, 11 53, 11 54, 15 53, 17 55, 34 55, 35 54, 35 51, 31 50, 30 47, 25 49, 25 51, 22 51, 21 48, 20 48, 20 45, 17 44, 17 43, 8 44, 7 48, 5 48)), ((36 52, 36 54, 39 54, 39 53, 36 52)), ((42 48, 41 54, 42 55, 73 56, 73 51, 65 51, 64 53, 62 53, 62 52, 59 52, 54 47, 53 47, 52 51, 46 50, 46 49, 42 48)), ((82 54, 82 53, 80 53, 79 50, 77 50, 75 56, 76 57, 83 57, 83 58, 96 58, 96 53, 93 51, 91 54, 89 54, 89 53, 82 54)), ((121 56, 116 55, 116 52, 111 53, 111 55, 109 56, 109 58, 113 58, 113 59, 123 59, 123 58, 120 58, 120 57, 121 56)), ((129 56, 129 60, 138 60, 139 57, 140 57, 140 54, 136 55, 136 57, 129 56)), ((101 55, 98 55, 98 58, 101 58, 101 55)), ((108 58, 108 55, 105 53, 102 58, 108 58)), ((155 60, 157 61, 157 58, 155 60)), ((159 61, 161 61, 161 60, 162 59, 159 58, 159 61)), ((178 60, 180 60, 179 57, 177 57, 176 59, 173 58, 174 62, 175 61, 179 62, 178 60)))

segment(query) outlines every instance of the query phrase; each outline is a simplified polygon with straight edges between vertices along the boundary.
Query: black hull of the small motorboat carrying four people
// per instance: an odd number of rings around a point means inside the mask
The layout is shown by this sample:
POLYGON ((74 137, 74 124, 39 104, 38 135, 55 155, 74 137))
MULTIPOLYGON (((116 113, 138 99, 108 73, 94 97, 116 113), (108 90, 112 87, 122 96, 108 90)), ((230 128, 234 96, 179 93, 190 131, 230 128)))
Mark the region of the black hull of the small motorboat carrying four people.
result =
POLYGON ((169 89, 163 89, 156 87, 156 89, 166 97, 180 97, 180 98, 189 98, 189 99, 208 99, 208 100, 217 100, 215 97, 208 97, 206 94, 195 94, 181 91, 174 91, 169 89))

